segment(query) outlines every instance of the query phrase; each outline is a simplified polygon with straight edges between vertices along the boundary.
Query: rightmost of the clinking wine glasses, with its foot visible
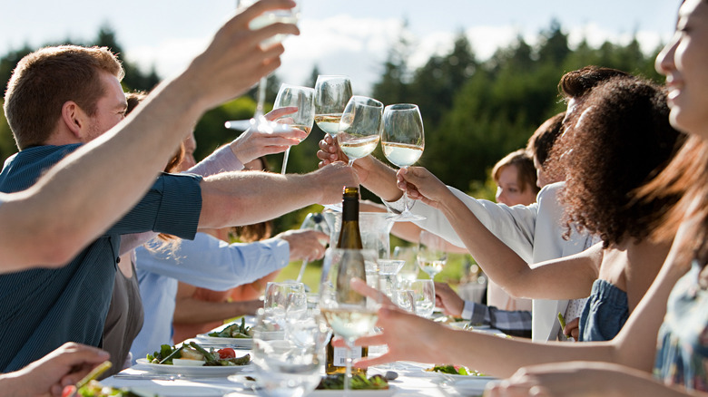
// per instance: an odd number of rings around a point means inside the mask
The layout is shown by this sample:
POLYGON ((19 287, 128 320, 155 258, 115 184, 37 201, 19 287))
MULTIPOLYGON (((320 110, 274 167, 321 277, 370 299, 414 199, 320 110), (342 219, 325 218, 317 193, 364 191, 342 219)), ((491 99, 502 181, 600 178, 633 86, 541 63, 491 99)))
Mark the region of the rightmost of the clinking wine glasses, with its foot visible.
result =
MULTIPOLYGON (((381 147, 384 156, 393 165, 405 169, 414 164, 423 154, 425 136, 423 119, 418 105, 398 103, 384 109, 384 128, 381 131, 381 147)), ((403 192, 404 209, 397 221, 422 220, 425 217, 415 215, 408 207, 408 195, 403 192)))

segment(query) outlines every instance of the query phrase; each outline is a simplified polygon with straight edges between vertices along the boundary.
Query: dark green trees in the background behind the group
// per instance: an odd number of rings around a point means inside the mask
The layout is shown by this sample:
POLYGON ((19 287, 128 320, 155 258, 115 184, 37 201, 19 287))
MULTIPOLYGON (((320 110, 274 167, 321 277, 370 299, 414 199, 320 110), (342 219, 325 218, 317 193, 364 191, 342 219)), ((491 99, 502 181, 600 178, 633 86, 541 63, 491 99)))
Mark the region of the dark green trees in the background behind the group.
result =
MULTIPOLYGON (((567 34, 556 21, 539 33, 538 45, 531 46, 521 38, 501 48, 490 59, 477 60, 464 34, 457 35, 455 45, 445 55, 432 56, 416 70, 408 67, 411 45, 401 34, 392 45, 388 59, 380 67, 379 82, 371 96, 385 104, 418 103, 426 128, 426 150, 418 165, 435 173, 447 184, 470 192, 476 197, 493 199, 494 184, 488 180, 489 169, 509 151, 526 146, 526 140, 548 117, 565 109, 557 93, 557 82, 563 73, 588 64, 615 67, 661 81, 654 71, 654 53, 642 53, 636 40, 629 44, 606 42, 593 48, 586 42, 570 48, 567 34)), ((63 43, 67 43, 66 41, 63 43)), ((104 26, 95 40, 84 45, 105 45, 115 53, 123 53, 112 29, 104 26)), ((0 58, 0 83, 5 86, 15 63, 34 49, 21 48, 0 58)), ((149 91, 160 81, 152 71, 142 71, 123 59, 126 91, 149 91)), ((336 73, 337 71, 322 71, 336 73)), ((317 67, 310 73, 310 87, 320 73, 317 67)), ((280 81, 270 76, 268 103, 272 103, 280 81)), ((224 129, 227 120, 251 117, 255 104, 253 93, 208 111, 196 126, 198 159, 222 143, 235 137, 224 129)), ((315 153, 323 132, 317 127, 310 137, 290 151, 289 172, 317 169, 315 153)), ((4 115, 0 115, 0 159, 16 151, 11 131, 4 115)), ((384 159, 380 149, 375 152, 384 159)), ((282 155, 270 156, 271 169, 280 169, 282 155)), ((366 199, 374 199, 364 192, 366 199)), ((308 212, 319 206, 303 208, 276 220, 278 230, 298 228, 308 212)), ((392 247, 394 246, 392 241, 392 247)))

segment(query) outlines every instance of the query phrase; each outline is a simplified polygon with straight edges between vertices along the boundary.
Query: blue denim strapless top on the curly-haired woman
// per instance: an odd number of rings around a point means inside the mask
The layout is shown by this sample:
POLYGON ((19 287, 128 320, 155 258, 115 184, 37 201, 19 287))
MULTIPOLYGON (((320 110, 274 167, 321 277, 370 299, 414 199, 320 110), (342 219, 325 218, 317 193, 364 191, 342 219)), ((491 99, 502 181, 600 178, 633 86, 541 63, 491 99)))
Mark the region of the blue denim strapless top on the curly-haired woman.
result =
POLYGON ((606 280, 597 279, 580 315, 580 342, 609 341, 629 317, 627 294, 606 280))

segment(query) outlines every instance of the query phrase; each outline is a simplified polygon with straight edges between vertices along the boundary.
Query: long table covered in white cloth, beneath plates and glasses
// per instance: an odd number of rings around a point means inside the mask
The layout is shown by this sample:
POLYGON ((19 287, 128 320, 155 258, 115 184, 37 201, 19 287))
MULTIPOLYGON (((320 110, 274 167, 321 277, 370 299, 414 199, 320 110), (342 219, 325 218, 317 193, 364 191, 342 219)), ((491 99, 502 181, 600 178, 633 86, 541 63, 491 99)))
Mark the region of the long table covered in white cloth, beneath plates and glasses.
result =
MULTIPOLYGON (((477 332, 501 334, 496 330, 477 329, 477 332)), ((503 334, 502 334, 503 335, 503 334)), ((185 343, 198 339, 188 339, 185 343)), ((247 349, 234 349, 237 356, 250 351, 247 349)), ((369 347, 370 354, 385 351, 383 346, 369 347)), ((398 374, 395 380, 389 381, 388 391, 353 391, 353 397, 388 397, 388 396, 477 396, 482 395, 487 382, 494 382, 495 378, 477 377, 472 375, 447 375, 426 371, 433 366, 432 363, 397 362, 380 366, 369 367, 368 376, 394 372, 398 374)), ((183 368, 183 367, 182 367, 183 368)), ((145 396, 178 397, 178 396, 253 396, 257 395, 251 389, 251 384, 244 378, 251 369, 246 367, 239 373, 232 375, 220 373, 207 374, 173 374, 157 373, 151 365, 136 363, 102 381, 104 385, 118 388, 127 387, 145 396)), ((182 371, 180 371, 182 372, 182 371)), ((323 373, 324 374, 324 373, 323 373)), ((311 392, 312 397, 333 397, 343 395, 342 391, 311 392)))

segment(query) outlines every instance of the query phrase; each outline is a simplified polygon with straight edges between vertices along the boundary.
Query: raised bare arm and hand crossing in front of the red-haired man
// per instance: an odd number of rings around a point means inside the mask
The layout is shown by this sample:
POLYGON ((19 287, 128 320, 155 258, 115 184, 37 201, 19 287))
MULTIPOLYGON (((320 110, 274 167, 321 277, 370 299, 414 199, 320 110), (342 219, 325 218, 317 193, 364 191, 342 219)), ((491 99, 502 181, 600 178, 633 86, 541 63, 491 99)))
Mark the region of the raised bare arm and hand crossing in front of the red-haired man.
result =
POLYGON ((61 266, 132 208, 204 111, 280 65, 282 45, 260 44, 273 34, 298 34, 297 27, 272 24, 251 31, 248 24, 265 10, 293 5, 264 0, 234 16, 204 53, 159 85, 125 121, 59 162, 33 188, 3 195, 1 271, 61 266), (120 178, 108 178, 116 169, 120 178))

